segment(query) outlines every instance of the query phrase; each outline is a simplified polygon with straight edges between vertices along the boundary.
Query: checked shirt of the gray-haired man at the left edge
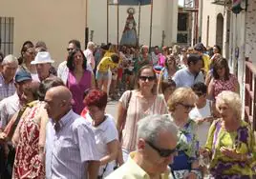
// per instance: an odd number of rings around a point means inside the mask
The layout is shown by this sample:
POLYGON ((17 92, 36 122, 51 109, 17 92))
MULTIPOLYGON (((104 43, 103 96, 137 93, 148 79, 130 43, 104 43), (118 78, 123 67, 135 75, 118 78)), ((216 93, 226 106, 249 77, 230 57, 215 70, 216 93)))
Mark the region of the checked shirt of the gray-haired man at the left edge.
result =
POLYGON ((11 80, 9 84, 6 84, 3 74, 0 73, 0 101, 11 96, 15 91, 14 81, 11 80))

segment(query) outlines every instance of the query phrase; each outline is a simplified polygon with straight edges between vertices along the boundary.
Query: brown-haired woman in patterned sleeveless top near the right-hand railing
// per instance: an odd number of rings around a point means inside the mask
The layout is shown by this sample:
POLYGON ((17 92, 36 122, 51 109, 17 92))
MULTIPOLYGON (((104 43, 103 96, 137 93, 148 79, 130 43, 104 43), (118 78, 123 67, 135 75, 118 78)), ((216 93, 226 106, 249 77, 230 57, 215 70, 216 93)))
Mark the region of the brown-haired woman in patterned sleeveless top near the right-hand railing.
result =
POLYGON ((223 90, 239 93, 238 79, 229 72, 226 59, 218 58, 213 65, 213 78, 208 86, 208 96, 215 101, 215 97, 223 90))

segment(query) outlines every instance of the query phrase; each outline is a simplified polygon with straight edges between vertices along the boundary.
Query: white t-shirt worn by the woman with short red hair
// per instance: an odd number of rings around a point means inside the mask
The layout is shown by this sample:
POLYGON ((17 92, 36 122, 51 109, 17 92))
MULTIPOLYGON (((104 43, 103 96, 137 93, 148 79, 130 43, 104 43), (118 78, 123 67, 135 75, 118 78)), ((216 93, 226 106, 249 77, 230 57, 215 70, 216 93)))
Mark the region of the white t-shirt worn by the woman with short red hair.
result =
MULTIPOLYGON (((88 120, 91 123, 91 127, 95 133, 95 139, 96 139, 96 149, 98 150, 99 157, 102 158, 107 155, 108 149, 107 144, 118 140, 118 132, 115 124, 115 119, 110 114, 105 114, 106 119, 104 122, 102 122, 99 126, 94 127, 93 126, 93 120, 87 112, 86 114, 86 120, 88 120)), ((108 163, 107 169, 105 170, 103 176, 106 177, 108 174, 110 174, 116 165, 116 161, 112 161, 108 163)), ((106 165, 100 166, 98 169, 98 175, 101 175, 103 172, 103 169, 106 168, 106 165)))

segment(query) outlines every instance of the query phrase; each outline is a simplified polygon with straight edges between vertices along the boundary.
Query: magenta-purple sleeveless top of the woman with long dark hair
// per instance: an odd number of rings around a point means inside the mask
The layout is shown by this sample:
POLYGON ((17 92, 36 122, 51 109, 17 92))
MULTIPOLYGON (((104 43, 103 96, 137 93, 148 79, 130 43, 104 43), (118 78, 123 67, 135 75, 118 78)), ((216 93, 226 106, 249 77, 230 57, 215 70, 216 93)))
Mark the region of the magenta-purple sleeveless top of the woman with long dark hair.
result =
POLYGON ((84 90, 90 89, 92 86, 92 72, 85 70, 82 78, 78 82, 73 71, 69 72, 67 87, 71 90, 73 95, 73 110, 79 114, 84 109, 83 94, 84 90))

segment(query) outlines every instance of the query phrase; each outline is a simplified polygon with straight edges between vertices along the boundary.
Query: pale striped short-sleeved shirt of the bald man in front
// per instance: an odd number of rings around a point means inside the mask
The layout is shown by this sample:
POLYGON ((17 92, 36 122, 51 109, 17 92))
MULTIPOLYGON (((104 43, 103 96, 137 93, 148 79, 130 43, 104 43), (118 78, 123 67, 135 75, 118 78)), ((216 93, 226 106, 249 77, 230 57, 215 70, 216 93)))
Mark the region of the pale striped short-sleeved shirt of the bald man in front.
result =
POLYGON ((53 120, 46 131, 46 178, 86 179, 87 161, 98 161, 93 130, 84 118, 70 110, 59 121, 55 131, 53 120))

